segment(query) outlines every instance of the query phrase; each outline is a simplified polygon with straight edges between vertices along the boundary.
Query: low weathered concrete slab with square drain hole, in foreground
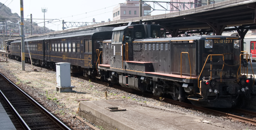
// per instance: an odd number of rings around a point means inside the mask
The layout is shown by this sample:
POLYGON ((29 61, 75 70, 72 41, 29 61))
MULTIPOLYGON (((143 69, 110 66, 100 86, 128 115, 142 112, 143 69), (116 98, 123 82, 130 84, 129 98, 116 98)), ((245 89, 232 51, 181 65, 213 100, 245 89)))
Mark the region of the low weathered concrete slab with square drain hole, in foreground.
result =
POLYGON ((145 107, 127 100, 82 101, 79 115, 107 130, 232 130, 221 123, 208 124, 209 121, 201 121, 197 116, 145 107), (126 111, 109 111, 105 107, 126 111))

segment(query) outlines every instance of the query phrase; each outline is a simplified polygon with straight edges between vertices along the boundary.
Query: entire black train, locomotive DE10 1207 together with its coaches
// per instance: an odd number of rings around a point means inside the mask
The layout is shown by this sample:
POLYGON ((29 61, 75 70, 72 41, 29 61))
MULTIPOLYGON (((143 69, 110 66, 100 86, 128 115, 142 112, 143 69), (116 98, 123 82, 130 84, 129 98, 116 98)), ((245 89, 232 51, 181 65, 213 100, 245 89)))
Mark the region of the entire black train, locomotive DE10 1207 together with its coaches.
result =
MULTIPOLYGON (((239 37, 167 38, 165 32, 159 25, 130 22, 31 37, 25 59, 30 61, 30 51, 31 62, 41 66, 69 62, 72 73, 95 77, 98 70, 98 78, 110 84, 203 107, 236 107, 255 94, 254 77, 243 74, 248 63, 240 60, 239 37)), ((20 40, 11 43, 9 57, 20 59, 20 40)))

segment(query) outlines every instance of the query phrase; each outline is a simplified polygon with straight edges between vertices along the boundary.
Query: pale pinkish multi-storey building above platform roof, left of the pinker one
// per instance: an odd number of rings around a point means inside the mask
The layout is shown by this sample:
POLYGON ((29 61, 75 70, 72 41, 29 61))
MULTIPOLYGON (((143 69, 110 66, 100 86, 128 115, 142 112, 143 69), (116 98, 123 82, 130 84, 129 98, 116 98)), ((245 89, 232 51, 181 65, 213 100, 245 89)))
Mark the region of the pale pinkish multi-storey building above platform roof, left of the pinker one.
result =
MULTIPOLYGON (((129 19, 140 16, 139 0, 126 0, 125 3, 118 4, 113 8, 113 20, 129 19)), ((151 15, 151 7, 142 4, 142 16, 151 15)))

